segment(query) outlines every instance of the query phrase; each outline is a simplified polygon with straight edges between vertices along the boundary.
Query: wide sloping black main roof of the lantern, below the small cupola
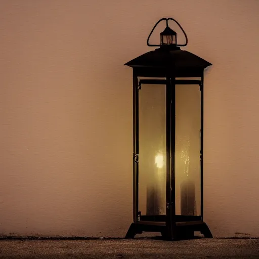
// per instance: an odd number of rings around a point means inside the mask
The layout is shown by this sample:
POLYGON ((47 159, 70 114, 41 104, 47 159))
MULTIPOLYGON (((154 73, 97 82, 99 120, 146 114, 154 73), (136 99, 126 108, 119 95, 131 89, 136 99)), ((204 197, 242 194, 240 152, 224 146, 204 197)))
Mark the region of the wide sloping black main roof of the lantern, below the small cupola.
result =
POLYGON ((159 48, 147 52, 124 65, 130 67, 150 67, 150 68, 175 68, 177 70, 185 70, 191 68, 205 69, 212 65, 208 61, 192 54, 188 51, 183 51, 179 47, 172 46, 170 48, 159 48))

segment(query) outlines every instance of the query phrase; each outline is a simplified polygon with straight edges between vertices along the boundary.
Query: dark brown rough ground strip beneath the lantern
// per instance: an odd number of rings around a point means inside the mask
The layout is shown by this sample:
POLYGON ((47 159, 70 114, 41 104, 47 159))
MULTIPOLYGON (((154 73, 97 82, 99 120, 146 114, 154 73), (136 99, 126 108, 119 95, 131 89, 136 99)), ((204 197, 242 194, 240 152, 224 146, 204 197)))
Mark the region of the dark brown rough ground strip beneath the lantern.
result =
POLYGON ((259 239, 3 239, 0 258, 259 258, 259 239))

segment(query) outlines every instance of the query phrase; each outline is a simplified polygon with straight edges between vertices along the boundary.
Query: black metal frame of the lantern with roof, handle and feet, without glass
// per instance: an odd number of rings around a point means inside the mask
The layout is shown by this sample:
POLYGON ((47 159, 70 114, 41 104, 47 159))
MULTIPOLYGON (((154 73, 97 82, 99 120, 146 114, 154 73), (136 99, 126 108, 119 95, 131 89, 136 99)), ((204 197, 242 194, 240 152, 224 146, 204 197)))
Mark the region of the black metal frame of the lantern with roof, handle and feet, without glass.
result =
POLYGON ((133 220, 125 238, 134 238, 143 231, 160 232, 169 240, 193 237, 194 231, 200 231, 205 237, 212 237, 209 228, 203 221, 203 82, 204 69, 209 62, 179 46, 186 46, 187 35, 181 25, 172 18, 162 18, 153 27, 147 39, 148 46, 159 46, 160 49, 148 52, 127 62, 125 65, 133 68, 133 220), (161 45, 150 45, 149 38, 157 24, 166 20, 175 21, 182 29, 186 42, 183 45, 173 45, 163 48, 161 45), (184 60, 184 61, 183 61, 184 60), (165 79, 140 79, 142 77, 159 77, 165 79), (185 79, 177 79, 177 78, 185 79), (188 79, 199 77, 199 80, 188 79), (165 215, 141 215, 138 210, 139 183, 139 91, 143 84, 164 84, 166 89, 166 213, 165 215), (176 114, 176 84, 198 84, 201 91, 201 138, 200 138, 200 174, 201 174, 201 214, 176 215, 175 207, 175 114, 176 114))

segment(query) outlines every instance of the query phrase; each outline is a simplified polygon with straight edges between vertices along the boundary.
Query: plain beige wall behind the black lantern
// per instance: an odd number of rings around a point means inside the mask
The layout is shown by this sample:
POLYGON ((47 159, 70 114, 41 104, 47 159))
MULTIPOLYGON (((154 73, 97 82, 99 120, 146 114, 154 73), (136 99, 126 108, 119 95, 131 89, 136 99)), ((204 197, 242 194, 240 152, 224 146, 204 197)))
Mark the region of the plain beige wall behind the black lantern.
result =
MULTIPOLYGON (((123 236, 132 222, 132 70, 161 17, 213 64, 204 216, 259 236, 259 1, 2 0, 1 235, 123 236)), ((152 38, 154 40, 155 37, 152 38)), ((235 234, 243 233, 243 234, 235 234)))

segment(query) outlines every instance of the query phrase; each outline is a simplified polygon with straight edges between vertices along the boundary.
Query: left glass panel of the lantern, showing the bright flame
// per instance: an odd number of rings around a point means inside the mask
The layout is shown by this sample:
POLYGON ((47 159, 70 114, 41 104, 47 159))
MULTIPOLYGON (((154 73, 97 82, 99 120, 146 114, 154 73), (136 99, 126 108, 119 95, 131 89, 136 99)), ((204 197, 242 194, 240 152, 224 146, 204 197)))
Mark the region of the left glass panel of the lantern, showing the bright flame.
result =
POLYGON ((139 91, 139 211, 165 215, 165 85, 142 84, 139 91))

